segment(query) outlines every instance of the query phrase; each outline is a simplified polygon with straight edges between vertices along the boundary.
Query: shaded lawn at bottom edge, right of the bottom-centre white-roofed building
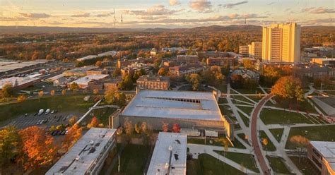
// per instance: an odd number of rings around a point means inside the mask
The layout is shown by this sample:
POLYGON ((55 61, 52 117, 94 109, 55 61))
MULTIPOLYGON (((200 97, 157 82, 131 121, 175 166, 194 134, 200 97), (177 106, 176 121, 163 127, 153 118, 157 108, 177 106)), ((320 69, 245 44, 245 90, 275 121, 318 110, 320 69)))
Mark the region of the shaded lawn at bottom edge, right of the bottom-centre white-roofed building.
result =
POLYGON ((240 170, 230 167, 211 155, 201 154, 198 159, 187 160, 187 175, 230 175, 244 174, 240 170))

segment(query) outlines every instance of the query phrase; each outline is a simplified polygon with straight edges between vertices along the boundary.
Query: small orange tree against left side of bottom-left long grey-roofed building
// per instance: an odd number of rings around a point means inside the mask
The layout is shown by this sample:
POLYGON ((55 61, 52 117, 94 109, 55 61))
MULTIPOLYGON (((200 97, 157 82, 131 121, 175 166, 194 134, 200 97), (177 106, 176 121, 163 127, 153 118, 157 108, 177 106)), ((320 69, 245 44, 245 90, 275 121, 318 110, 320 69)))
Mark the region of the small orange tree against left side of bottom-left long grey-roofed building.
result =
POLYGON ((69 150, 80 138, 83 133, 83 128, 79 127, 78 124, 71 126, 67 131, 62 148, 67 151, 69 150))

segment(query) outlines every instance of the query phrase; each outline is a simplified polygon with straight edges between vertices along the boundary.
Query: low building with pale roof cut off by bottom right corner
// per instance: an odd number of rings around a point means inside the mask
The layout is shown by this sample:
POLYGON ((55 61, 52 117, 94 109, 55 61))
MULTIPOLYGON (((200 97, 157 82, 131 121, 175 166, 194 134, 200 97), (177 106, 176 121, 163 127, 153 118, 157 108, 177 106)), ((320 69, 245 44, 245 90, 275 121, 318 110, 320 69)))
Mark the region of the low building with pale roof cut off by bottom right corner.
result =
POLYGON ((307 157, 321 175, 335 174, 335 142, 310 141, 307 157))

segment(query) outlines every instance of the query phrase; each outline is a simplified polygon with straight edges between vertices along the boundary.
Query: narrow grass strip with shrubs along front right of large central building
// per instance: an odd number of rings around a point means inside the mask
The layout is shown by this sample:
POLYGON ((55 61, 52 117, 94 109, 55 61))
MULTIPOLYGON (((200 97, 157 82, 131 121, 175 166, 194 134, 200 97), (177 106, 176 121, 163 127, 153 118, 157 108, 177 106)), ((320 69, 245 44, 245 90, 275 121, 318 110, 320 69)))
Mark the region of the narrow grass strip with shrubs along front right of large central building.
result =
MULTIPOLYGON (((194 143, 199 145, 205 145, 205 139, 204 138, 187 138, 187 143, 194 143)), ((206 138, 206 145, 215 145, 215 146, 224 146, 225 144, 228 144, 229 147, 233 147, 233 145, 229 144, 229 141, 227 138, 206 138), (210 140, 213 142, 213 144, 210 143, 210 140)), ((235 148, 241 148, 245 149, 245 146, 242 145, 237 139, 233 141, 235 148)))

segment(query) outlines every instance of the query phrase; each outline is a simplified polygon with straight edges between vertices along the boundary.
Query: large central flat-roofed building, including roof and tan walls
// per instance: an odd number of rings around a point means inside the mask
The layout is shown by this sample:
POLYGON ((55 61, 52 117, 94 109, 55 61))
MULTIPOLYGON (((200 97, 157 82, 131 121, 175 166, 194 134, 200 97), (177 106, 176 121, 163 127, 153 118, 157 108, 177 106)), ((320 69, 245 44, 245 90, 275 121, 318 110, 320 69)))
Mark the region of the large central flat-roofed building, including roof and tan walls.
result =
POLYGON ((207 129, 233 137, 233 126, 221 114, 213 92, 141 90, 119 118, 122 124, 128 118, 161 130, 163 122, 170 127, 177 123, 181 128, 207 129))

